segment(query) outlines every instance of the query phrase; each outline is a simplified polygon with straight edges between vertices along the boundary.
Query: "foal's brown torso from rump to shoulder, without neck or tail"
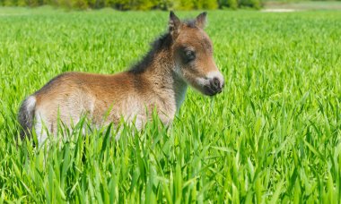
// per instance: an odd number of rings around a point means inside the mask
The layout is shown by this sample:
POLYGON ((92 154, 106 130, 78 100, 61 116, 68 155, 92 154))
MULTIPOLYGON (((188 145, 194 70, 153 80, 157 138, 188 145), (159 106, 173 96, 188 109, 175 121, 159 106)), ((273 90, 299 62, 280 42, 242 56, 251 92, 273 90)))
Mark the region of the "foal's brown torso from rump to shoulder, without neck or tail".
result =
POLYGON ((142 80, 139 77, 129 72, 114 75, 66 72, 57 76, 28 98, 35 102, 37 134, 43 134, 44 127, 55 133, 57 119, 70 126, 87 116, 93 124, 101 125, 106 121, 118 123, 122 115, 136 115, 137 107, 143 106, 144 101, 144 91, 136 84, 142 80))

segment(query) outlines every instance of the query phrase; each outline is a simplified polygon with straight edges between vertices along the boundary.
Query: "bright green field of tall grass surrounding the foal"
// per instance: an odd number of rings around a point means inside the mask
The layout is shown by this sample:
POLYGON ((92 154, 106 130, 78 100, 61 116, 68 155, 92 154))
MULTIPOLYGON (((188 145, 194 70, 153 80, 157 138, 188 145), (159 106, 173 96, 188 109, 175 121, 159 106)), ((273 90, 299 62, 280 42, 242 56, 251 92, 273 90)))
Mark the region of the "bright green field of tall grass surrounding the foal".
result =
POLYGON ((340 202, 340 13, 208 20, 222 94, 189 89, 169 130, 157 117, 118 141, 75 128, 39 149, 15 142, 22 99, 61 72, 127 69, 168 13, 0 8, 0 203, 340 202))

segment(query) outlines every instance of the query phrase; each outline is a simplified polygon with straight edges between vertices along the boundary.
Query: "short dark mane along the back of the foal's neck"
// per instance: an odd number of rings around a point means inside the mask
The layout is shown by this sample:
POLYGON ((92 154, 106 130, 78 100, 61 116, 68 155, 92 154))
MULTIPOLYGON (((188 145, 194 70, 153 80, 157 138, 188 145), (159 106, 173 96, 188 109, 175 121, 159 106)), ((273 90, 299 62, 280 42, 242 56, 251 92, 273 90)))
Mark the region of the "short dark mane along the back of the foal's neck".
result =
POLYGON ((157 38, 153 43, 151 44, 151 50, 144 55, 144 58, 138 62, 137 64, 133 65, 128 72, 131 73, 142 73, 144 72, 153 62, 153 58, 157 53, 162 51, 163 49, 170 48, 172 38, 170 36, 170 33, 163 34, 160 38, 157 38))

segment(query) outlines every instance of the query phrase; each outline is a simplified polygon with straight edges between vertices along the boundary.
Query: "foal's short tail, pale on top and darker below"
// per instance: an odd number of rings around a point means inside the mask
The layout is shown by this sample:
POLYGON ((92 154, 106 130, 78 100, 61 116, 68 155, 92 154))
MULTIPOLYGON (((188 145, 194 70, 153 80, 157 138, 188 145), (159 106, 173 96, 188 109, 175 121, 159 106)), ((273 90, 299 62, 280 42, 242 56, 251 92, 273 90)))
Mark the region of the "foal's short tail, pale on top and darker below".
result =
POLYGON ((30 96, 22 101, 22 106, 20 106, 18 114, 19 123, 22 125, 22 131, 20 132, 21 139, 24 139, 26 136, 31 136, 35 109, 36 98, 34 96, 30 96))

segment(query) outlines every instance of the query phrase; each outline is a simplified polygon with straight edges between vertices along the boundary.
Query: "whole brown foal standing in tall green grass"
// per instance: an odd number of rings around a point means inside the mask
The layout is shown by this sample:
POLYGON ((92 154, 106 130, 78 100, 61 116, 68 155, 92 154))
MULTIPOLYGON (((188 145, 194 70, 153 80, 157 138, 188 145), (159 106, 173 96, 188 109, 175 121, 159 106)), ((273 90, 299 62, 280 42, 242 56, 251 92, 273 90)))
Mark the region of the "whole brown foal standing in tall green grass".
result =
POLYGON ((123 118, 127 123, 135 121, 141 129, 154 109, 163 123, 171 123, 188 84, 209 96, 223 89, 223 75, 214 64, 204 25, 205 13, 187 22, 170 13, 170 31, 129 71, 57 76, 22 102, 19 121, 23 135, 30 135, 34 126, 42 143, 47 139, 44 127, 55 133, 58 119, 70 127, 83 115, 96 126, 123 118))

